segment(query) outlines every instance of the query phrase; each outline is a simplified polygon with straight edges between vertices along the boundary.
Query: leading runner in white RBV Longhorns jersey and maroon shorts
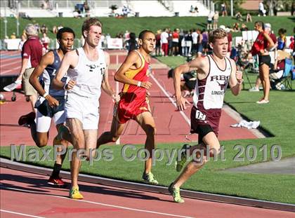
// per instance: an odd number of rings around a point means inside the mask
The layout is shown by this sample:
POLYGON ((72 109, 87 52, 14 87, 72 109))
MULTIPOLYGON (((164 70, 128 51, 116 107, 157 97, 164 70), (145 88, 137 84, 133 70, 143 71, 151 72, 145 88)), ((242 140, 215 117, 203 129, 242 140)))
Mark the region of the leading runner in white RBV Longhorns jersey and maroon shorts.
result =
POLYGON ((194 105, 192 107, 191 132, 199 134, 199 144, 188 147, 183 146, 181 156, 177 158, 176 170, 181 171, 187 156, 194 154, 193 160, 185 166, 181 175, 169 186, 173 200, 183 203, 180 195, 181 185, 188 180, 197 170, 202 168, 207 161, 207 149, 209 156, 219 152, 218 124, 221 117, 223 97, 228 84, 233 95, 238 95, 242 90, 242 72, 237 71, 235 61, 226 57, 228 50, 228 38, 223 29, 215 29, 209 33, 209 45, 213 49, 212 55, 197 57, 196 59, 176 67, 174 71, 174 88, 178 109, 186 109, 185 100, 181 96, 181 74, 197 70, 197 83, 194 105))

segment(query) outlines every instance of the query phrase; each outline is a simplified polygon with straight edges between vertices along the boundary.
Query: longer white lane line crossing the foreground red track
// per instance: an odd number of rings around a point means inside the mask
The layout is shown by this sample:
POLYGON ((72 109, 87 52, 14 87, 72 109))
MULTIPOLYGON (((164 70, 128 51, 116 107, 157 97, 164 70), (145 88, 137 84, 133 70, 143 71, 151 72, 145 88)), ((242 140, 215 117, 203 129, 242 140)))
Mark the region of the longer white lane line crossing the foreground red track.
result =
MULTIPOLYGON (((15 191, 23 191, 23 192, 27 192, 27 193, 39 193, 39 191, 28 191, 25 189, 16 189, 16 188, 10 188, 10 187, 6 187, 6 186, 2 186, 2 189, 11 189, 11 190, 15 190, 15 191)), ((55 196, 55 195, 51 195, 51 194, 46 194, 46 196, 50 196, 53 198, 63 198, 66 200, 74 200, 71 198, 67 198, 64 196, 55 196)), ((90 200, 75 200, 78 202, 84 202, 84 203, 92 203, 95 205, 104 205, 107 207, 115 207, 115 208, 120 208, 120 209, 124 209, 124 210, 133 210, 133 211, 138 211, 138 212, 147 212, 147 213, 151 213, 151 214, 161 214, 164 216, 170 216, 170 217, 183 217, 183 218, 193 218, 193 217, 187 217, 187 216, 182 216, 182 215, 177 215, 177 214, 168 214, 168 213, 164 213, 164 212, 156 212, 156 211, 152 211, 152 210, 140 210, 140 209, 136 209, 136 208, 131 208, 131 207, 122 207, 122 206, 118 206, 118 205, 110 205, 110 204, 106 204, 106 203, 98 203, 98 202, 94 202, 94 201, 90 201, 90 200)))

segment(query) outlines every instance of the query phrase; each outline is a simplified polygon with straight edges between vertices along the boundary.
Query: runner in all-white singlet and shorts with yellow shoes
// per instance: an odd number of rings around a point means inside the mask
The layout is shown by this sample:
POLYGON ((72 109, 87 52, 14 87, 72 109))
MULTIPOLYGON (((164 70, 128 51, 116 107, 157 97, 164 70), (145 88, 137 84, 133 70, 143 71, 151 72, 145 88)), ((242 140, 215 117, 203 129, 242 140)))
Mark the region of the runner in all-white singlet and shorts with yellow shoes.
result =
MULTIPOLYGON (((80 159, 94 155, 94 152, 90 154, 90 151, 96 149, 100 88, 103 88, 105 93, 112 96, 113 99, 116 97, 107 77, 110 57, 103 50, 98 49, 101 32, 102 24, 99 20, 96 18, 85 20, 82 26, 82 34, 85 39, 84 46, 65 55, 53 80, 56 88, 67 90, 65 114, 74 146, 71 163, 70 198, 74 199, 83 198, 78 186, 80 159), (67 83, 61 81, 65 74, 70 78, 67 83), (86 152, 84 154, 83 152, 77 153, 79 149, 86 149, 86 152)), ((60 133, 63 137, 62 132, 60 133)))

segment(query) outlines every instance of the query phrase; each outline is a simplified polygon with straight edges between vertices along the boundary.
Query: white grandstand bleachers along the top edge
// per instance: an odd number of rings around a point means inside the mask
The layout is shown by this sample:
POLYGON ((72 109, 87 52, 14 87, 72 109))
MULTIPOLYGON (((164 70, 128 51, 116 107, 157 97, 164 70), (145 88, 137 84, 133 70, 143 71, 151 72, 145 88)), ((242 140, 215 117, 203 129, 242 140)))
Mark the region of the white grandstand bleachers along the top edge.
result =
POLYGON ((122 8, 127 6, 130 9, 128 16, 137 17, 172 17, 172 16, 207 16, 209 11, 214 11, 212 0, 202 1, 162 1, 162 0, 99 0, 99 1, 75 1, 75 0, 1 0, 1 17, 11 16, 27 18, 72 18, 74 11, 80 9, 81 16, 84 2, 89 5, 91 17, 110 17, 122 15, 122 8), (112 10, 112 6, 117 9, 112 10), (191 7, 198 8, 198 12, 190 11, 191 7))

